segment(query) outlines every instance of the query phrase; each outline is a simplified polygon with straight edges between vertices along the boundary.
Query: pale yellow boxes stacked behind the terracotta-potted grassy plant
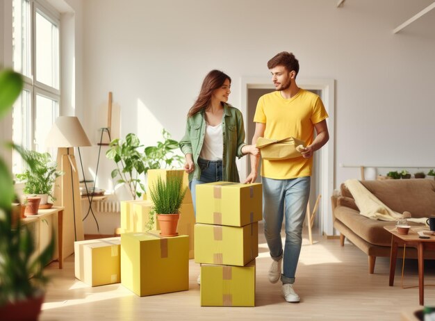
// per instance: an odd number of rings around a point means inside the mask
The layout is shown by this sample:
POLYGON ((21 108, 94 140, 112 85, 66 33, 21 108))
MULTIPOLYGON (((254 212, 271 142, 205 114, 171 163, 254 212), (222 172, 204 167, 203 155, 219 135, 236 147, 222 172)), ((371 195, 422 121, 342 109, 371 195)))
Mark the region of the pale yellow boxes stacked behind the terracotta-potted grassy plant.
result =
MULTIPOLYGON (((138 201, 121 201, 121 233, 142 232, 147 231, 147 223, 149 221, 149 211, 151 211, 152 201, 149 196, 151 186, 157 181, 157 177, 165 181, 167 177, 173 175, 183 176, 183 188, 188 187, 188 175, 184 170, 148 170, 147 177, 147 200, 138 201)), ((183 204, 180 208, 180 220, 177 231, 180 235, 188 235, 189 238, 189 258, 193 258, 193 227, 195 225, 195 214, 193 213, 192 195, 190 190, 186 192, 183 199, 183 204)), ((154 217, 154 225, 152 229, 158 230, 158 222, 154 217)))

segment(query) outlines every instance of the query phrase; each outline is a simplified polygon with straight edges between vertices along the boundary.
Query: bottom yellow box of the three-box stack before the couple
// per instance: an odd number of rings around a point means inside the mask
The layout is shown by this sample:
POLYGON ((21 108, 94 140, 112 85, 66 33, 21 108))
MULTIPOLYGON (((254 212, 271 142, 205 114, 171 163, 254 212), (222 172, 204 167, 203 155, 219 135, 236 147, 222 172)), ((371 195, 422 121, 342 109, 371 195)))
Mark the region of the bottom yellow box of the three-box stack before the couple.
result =
POLYGON ((255 260, 245 266, 201 265, 201 306, 255 306, 255 260))

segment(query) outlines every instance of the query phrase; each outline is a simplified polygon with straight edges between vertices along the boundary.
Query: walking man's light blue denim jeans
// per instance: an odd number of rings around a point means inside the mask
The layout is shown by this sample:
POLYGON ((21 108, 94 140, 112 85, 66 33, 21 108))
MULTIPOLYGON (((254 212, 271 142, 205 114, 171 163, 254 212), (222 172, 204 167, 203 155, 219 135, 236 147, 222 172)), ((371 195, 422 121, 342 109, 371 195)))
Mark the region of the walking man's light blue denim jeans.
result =
POLYGON ((279 261, 284 256, 282 283, 292 284, 295 282, 297 261, 302 247, 302 226, 310 196, 311 177, 262 179, 264 235, 272 259, 279 261), (284 213, 286 243, 283 252, 281 227, 284 213))

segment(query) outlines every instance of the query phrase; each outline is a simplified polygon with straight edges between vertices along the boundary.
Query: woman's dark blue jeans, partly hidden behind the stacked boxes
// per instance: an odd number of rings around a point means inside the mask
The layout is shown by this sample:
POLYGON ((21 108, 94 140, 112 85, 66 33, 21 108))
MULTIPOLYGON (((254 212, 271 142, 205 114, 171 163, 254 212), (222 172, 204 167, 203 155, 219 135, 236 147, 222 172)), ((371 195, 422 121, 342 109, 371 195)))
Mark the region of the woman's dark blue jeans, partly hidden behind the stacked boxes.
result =
POLYGON ((198 166, 201 169, 201 177, 199 179, 192 179, 189 183, 195 217, 197 215, 196 186, 204 183, 222 181, 222 161, 207 161, 206 159, 198 158, 198 166))

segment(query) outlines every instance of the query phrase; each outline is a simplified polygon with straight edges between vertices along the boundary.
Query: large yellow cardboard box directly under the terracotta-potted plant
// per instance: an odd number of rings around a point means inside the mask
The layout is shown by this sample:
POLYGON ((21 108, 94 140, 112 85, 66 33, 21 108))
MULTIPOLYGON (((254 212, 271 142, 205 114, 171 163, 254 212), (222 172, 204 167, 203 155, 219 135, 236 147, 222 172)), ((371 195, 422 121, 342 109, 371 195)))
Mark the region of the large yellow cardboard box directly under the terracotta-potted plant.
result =
POLYGON ((122 285, 140 297, 189 289, 189 237, 121 235, 122 285))

